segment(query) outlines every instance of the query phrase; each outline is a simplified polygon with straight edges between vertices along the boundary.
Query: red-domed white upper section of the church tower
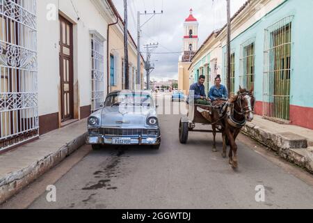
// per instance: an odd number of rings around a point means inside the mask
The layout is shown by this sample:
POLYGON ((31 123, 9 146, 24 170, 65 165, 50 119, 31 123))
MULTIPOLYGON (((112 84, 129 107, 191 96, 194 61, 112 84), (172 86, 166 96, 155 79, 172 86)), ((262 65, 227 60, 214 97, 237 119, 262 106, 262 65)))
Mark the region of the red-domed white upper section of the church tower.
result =
POLYGON ((199 23, 193 17, 193 10, 189 11, 190 15, 184 22, 184 51, 197 51, 198 50, 198 26, 199 23))

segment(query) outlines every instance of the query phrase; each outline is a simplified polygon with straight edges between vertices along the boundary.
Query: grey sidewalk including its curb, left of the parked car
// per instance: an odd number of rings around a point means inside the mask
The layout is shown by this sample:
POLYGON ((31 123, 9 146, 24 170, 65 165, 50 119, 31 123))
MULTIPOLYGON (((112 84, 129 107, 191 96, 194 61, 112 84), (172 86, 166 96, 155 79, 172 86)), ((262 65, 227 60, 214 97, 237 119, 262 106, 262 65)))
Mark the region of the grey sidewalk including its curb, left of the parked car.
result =
POLYGON ((0 204, 85 144, 86 119, 0 155, 0 204))

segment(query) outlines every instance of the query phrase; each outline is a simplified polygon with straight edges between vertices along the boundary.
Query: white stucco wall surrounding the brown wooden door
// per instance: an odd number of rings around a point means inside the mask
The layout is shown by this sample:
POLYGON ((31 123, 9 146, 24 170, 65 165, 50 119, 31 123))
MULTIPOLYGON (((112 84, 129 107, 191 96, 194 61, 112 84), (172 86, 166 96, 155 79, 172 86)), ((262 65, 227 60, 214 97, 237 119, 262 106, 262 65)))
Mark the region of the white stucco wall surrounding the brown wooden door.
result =
MULTIPOLYGON (((73 0, 79 11, 77 20, 70 0, 40 0, 37 1, 38 22, 38 92, 39 115, 59 112, 59 59, 58 40, 59 24, 56 20, 47 20, 47 5, 55 4, 56 9, 74 24, 74 96, 77 107, 91 104, 91 71, 90 71, 90 30, 96 30, 106 38, 107 22, 91 1, 73 0), (60 4, 58 4, 60 3, 60 4)), ((58 15, 58 13, 57 13, 58 15)), ((106 43, 104 44, 106 55, 106 43)), ((106 71, 106 60, 104 60, 106 71)), ((105 72, 106 73, 106 72, 105 72)), ((106 86, 106 79, 104 85, 106 86)), ((105 87, 106 88, 106 87, 105 87)), ((105 90, 106 92, 106 90, 105 90)))

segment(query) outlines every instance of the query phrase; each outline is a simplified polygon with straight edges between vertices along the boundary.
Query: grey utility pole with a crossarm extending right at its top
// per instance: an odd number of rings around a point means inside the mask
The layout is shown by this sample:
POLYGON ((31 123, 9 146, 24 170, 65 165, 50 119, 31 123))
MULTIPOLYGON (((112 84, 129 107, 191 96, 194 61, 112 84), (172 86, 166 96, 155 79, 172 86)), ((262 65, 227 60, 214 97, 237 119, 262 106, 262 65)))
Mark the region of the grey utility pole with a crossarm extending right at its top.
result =
MULTIPOLYGON (((161 13, 156 13, 155 10, 153 13, 141 13, 137 12, 137 76, 136 76, 136 85, 141 86, 141 28, 147 24, 155 15, 163 14, 163 10, 161 13), (141 25, 141 15, 151 15, 151 17, 141 25)), ((148 84, 149 85, 149 84, 148 84)))

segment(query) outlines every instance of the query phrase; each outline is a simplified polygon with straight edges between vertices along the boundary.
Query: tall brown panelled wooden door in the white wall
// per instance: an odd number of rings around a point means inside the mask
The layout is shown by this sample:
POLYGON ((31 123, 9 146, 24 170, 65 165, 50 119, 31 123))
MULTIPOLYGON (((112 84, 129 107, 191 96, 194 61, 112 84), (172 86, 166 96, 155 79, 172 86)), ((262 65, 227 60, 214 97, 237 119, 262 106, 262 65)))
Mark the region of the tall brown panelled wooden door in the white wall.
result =
POLYGON ((61 121, 74 118, 73 26, 60 16, 61 121))

